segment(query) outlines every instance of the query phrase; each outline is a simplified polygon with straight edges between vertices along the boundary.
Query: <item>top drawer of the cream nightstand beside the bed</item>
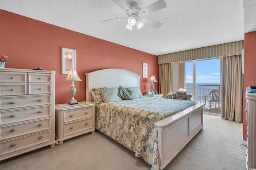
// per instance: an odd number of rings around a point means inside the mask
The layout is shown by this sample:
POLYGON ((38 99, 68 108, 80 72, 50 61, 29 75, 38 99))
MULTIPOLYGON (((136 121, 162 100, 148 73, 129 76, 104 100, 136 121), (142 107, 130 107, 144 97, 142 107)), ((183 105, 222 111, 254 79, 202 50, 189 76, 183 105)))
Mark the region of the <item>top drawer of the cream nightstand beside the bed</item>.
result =
POLYGON ((92 109, 92 107, 88 107, 86 109, 77 109, 75 111, 64 111, 64 122, 91 117, 92 109))

